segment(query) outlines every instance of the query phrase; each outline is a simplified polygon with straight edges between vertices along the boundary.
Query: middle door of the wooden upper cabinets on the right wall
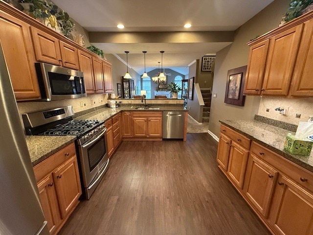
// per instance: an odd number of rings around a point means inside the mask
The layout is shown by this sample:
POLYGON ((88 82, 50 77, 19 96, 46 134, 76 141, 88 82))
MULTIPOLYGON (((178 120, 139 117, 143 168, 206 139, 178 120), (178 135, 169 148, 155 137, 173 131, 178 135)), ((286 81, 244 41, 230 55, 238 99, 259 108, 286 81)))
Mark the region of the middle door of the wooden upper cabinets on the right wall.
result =
POLYGON ((299 24, 270 38, 261 94, 288 94, 302 27, 299 24))

